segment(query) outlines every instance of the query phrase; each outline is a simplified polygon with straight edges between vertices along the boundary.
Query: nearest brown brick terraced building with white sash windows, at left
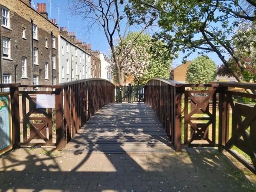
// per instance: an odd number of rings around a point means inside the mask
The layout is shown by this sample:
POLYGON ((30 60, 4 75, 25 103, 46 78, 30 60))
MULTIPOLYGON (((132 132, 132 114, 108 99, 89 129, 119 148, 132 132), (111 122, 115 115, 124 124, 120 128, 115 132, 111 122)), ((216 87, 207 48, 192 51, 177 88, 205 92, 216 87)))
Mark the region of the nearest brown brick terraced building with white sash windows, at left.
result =
POLYGON ((58 82, 58 26, 49 20, 46 4, 30 0, 0 1, 0 83, 58 82))

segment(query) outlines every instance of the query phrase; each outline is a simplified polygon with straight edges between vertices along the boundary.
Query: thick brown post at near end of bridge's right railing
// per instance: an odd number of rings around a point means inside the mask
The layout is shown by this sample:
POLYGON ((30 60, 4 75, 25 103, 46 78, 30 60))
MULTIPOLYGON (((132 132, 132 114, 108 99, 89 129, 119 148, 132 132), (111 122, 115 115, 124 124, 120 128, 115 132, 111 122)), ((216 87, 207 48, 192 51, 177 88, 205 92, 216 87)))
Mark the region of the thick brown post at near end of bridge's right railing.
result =
POLYGON ((182 93, 180 92, 180 88, 175 89, 175 140, 174 140, 174 148, 175 151, 181 151, 181 99, 182 93))

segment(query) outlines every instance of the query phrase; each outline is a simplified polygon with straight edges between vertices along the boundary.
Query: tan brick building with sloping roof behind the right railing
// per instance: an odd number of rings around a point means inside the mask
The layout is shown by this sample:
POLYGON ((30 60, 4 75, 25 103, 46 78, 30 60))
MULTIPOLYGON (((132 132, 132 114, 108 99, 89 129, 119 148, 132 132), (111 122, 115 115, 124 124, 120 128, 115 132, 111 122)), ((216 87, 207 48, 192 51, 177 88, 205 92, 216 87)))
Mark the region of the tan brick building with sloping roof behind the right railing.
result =
POLYGON ((186 82, 186 72, 190 64, 191 61, 187 61, 186 63, 171 70, 170 79, 178 82, 186 82))

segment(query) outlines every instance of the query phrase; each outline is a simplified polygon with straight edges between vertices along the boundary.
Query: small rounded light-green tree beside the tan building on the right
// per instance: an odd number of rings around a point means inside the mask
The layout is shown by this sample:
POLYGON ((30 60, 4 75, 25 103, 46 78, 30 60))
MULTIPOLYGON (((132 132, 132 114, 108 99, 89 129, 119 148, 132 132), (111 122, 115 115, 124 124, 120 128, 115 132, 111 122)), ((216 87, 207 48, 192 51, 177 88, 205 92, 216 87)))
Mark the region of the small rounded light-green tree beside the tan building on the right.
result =
POLYGON ((195 58, 188 67, 186 81, 192 84, 206 84, 214 81, 217 76, 217 67, 214 61, 201 55, 195 58))

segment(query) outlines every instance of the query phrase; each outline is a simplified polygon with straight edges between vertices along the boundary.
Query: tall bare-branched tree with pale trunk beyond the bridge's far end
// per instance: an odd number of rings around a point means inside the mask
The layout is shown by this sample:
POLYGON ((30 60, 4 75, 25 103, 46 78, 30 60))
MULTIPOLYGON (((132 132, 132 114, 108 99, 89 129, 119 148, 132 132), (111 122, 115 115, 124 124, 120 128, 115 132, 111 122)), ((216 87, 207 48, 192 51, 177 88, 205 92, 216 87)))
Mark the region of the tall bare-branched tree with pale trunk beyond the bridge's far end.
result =
POLYGON ((94 24, 98 24, 104 30, 108 44, 110 46, 113 61, 116 68, 116 75, 119 84, 124 82, 123 61, 131 51, 134 42, 139 36, 152 25, 156 20, 155 12, 147 12, 147 14, 137 14, 141 9, 134 9, 137 13, 127 16, 129 3, 123 0, 69 0, 70 9, 76 15, 82 15, 88 21, 88 27, 91 29, 94 24), (91 26, 89 26, 91 25, 91 26), (123 40, 126 33, 131 28, 138 29, 137 36, 131 40, 130 47, 126 49, 124 54, 123 40), (120 44, 119 50, 116 52, 115 38, 117 36, 120 44), (116 54, 118 53, 118 54, 116 54))

